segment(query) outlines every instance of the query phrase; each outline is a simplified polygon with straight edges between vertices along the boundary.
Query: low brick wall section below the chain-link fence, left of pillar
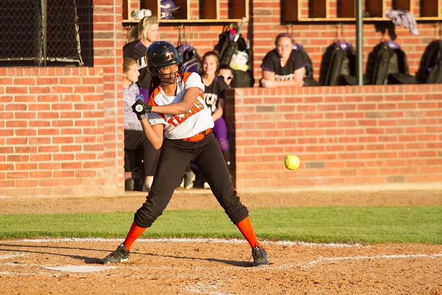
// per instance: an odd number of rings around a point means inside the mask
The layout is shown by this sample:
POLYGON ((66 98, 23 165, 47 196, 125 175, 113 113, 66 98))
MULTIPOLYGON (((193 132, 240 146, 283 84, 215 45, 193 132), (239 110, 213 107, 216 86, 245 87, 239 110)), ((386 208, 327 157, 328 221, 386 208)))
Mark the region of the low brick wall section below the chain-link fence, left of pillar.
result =
POLYGON ((0 196, 99 194, 102 68, 0 68, 0 196))

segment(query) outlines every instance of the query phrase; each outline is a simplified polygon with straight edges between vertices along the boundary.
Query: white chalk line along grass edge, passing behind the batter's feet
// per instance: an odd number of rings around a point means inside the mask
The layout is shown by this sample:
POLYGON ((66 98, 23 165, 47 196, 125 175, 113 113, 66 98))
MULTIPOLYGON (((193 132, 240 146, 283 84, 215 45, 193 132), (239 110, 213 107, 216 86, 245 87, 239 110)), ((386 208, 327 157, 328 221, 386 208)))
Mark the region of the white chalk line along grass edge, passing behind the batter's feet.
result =
MULTIPOLYGON (((123 238, 47 238, 47 239, 21 239, 9 240, 4 242, 29 242, 29 243, 60 243, 60 242, 122 242, 123 238)), ((243 239, 221 239, 221 238, 139 238, 137 242, 147 243, 224 243, 224 244, 246 244, 247 241, 243 239)), ((343 244, 343 243, 309 243, 302 241, 262 241, 262 245, 283 245, 283 246, 304 246, 304 247, 333 247, 333 248, 348 248, 348 247, 365 247, 361 244, 343 244)))

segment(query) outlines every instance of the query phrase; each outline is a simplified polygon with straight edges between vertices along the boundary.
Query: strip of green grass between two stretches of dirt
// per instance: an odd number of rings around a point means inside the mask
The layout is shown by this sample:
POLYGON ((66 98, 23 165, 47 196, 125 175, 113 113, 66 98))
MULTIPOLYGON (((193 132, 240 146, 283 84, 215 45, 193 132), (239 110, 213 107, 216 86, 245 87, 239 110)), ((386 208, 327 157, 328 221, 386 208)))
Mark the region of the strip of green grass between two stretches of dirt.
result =
MULTIPOLYGON (((124 237, 134 212, 0 215, 0 238, 124 237)), ((250 210, 259 239, 442 244, 442 207, 250 210)), ((241 237, 219 210, 166 210, 143 237, 241 237)))

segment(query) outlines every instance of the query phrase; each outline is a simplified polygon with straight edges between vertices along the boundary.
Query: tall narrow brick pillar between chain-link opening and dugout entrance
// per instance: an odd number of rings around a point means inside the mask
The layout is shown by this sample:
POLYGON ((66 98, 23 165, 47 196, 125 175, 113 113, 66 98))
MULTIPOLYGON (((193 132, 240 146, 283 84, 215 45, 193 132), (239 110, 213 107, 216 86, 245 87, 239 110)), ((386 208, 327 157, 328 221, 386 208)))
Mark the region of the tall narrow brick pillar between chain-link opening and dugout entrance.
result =
POLYGON ((94 66, 103 68, 104 193, 124 191, 122 0, 93 0, 94 66))

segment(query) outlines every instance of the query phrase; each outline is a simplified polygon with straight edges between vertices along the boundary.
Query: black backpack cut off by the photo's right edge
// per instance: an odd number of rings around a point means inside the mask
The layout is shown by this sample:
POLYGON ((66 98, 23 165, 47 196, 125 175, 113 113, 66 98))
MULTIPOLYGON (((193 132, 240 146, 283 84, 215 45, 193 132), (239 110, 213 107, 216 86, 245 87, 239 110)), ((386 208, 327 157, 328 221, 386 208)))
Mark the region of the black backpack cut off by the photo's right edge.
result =
POLYGON ((442 40, 428 44, 416 73, 418 83, 442 83, 442 40))

